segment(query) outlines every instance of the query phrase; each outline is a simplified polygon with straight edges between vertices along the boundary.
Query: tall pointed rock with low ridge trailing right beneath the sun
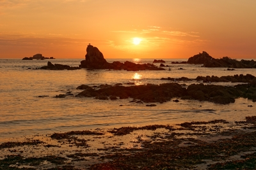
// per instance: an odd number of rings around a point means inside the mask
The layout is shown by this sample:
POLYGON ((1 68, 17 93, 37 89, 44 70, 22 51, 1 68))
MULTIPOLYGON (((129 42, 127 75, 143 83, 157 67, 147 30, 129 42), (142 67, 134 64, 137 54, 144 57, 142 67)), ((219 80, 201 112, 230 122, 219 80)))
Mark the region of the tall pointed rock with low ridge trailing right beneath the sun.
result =
POLYGON ((115 61, 109 63, 104 59, 103 54, 95 46, 88 45, 86 48, 85 60, 81 61, 79 65, 81 68, 87 69, 124 69, 127 71, 138 70, 164 70, 164 68, 157 67, 154 64, 135 64, 133 62, 126 61, 124 63, 115 61))

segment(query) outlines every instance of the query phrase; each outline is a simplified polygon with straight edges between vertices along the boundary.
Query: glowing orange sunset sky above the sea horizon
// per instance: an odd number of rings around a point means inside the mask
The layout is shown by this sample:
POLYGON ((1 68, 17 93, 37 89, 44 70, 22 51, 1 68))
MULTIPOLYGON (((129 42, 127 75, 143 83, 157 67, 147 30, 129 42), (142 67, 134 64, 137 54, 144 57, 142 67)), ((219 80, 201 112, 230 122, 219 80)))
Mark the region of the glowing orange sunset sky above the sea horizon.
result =
POLYGON ((106 59, 256 59, 255 10, 255 0, 0 0, 0 58, 84 59, 90 43, 106 59))

